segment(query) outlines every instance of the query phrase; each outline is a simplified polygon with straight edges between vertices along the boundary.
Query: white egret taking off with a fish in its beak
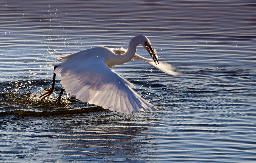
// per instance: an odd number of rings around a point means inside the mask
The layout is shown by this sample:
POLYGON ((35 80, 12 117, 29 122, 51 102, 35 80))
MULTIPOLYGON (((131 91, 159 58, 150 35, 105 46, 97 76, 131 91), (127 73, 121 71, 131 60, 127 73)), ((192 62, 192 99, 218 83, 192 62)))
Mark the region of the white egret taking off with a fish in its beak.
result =
POLYGON ((44 99, 54 91, 55 76, 61 73, 60 83, 63 89, 59 99, 65 89, 70 95, 77 95, 76 98, 82 102, 102 106, 111 111, 129 114, 144 109, 157 110, 156 106, 131 89, 134 87, 132 83, 109 68, 135 59, 147 62, 167 74, 183 75, 170 70, 174 68, 170 64, 164 62, 159 64, 157 58, 156 51, 153 51, 149 39, 144 35, 131 39, 127 51, 122 48, 100 46, 62 56, 53 66, 52 88, 46 89, 47 92, 41 97, 44 99), (148 51, 154 62, 136 54, 136 47, 140 44, 148 51))

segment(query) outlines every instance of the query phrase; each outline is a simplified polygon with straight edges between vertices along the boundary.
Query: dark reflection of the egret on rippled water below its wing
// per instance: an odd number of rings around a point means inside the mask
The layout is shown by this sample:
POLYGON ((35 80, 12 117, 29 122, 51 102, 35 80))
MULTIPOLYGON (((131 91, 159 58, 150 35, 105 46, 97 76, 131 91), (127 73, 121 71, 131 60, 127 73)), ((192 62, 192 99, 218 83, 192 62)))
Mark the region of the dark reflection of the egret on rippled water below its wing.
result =
MULTIPOLYGON (((62 136, 56 142, 56 150, 67 156, 65 160, 78 157, 100 162, 144 162, 144 159, 155 161, 152 157, 157 147, 151 143, 154 137, 142 136, 148 132, 148 128, 136 126, 133 118, 128 116, 124 119, 108 115, 106 118, 99 116, 98 119, 93 116, 86 117, 87 122, 83 121, 82 116, 78 118, 79 122, 71 122, 67 128, 63 127, 62 136), (91 122, 88 122, 88 118, 91 122)), ((149 123, 145 123, 147 124, 149 123)))

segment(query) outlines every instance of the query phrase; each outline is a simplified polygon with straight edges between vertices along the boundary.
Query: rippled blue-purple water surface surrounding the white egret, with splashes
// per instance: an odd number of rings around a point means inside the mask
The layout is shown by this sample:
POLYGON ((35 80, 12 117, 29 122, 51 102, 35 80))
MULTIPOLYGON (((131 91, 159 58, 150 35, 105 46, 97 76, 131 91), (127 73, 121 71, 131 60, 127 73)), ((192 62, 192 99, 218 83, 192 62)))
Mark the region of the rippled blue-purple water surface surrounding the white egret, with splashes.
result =
MULTIPOLYGON (((0 162, 256 162, 256 3, 1 1, 0 162), (113 69, 160 111, 124 114, 51 87, 54 54, 146 35, 173 77, 113 69)), ((137 53, 148 57, 137 48, 137 53)))

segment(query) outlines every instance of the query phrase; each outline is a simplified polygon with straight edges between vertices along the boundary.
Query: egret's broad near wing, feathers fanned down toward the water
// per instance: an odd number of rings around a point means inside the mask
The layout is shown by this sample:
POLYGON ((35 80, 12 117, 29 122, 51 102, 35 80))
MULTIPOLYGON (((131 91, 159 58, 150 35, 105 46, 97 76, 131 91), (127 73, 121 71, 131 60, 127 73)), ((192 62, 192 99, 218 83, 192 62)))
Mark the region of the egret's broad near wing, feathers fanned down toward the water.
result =
POLYGON ((56 72, 61 71, 61 85, 77 99, 102 106, 117 112, 137 112, 156 110, 131 89, 133 84, 119 76, 104 63, 104 58, 63 61, 57 64, 56 72), (144 108, 144 109, 143 109, 144 108))

